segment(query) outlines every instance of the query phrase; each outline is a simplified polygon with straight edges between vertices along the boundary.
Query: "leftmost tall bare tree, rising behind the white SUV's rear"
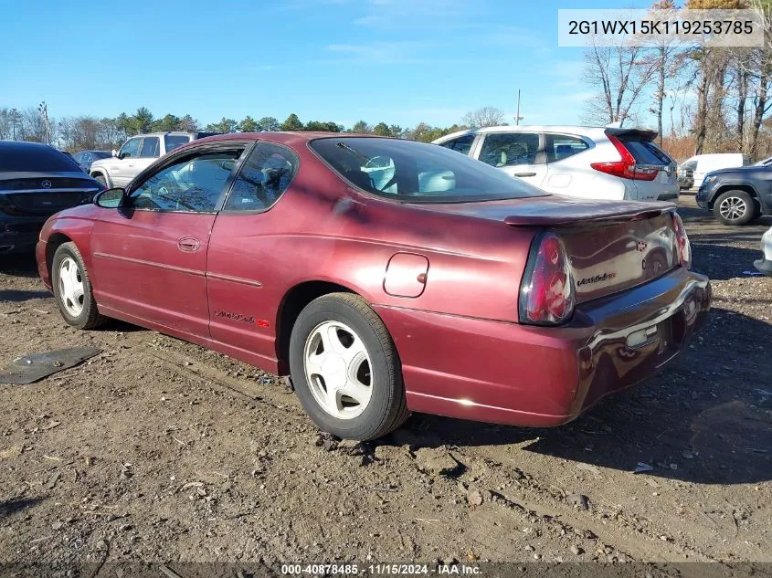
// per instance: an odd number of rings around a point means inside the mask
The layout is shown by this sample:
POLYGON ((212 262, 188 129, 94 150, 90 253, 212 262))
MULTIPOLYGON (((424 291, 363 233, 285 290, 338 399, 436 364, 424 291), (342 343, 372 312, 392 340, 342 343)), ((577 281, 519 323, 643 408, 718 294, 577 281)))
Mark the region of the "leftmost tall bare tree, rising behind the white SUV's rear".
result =
POLYGON ((654 78, 655 58, 643 58, 646 47, 619 44, 585 51, 584 78, 597 90, 586 105, 583 120, 593 124, 618 122, 622 126, 635 115, 640 95, 654 78))

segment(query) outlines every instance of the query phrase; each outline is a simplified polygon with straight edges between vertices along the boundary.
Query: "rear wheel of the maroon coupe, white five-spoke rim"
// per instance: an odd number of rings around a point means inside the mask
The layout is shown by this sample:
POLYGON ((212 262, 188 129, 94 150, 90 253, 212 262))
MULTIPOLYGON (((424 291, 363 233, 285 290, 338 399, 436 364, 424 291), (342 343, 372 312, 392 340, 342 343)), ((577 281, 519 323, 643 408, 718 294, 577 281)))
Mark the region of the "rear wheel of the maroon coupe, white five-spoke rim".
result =
POLYGON ((301 311, 290 338, 292 384, 323 431, 367 441, 409 415, 397 348, 365 300, 331 293, 301 311))

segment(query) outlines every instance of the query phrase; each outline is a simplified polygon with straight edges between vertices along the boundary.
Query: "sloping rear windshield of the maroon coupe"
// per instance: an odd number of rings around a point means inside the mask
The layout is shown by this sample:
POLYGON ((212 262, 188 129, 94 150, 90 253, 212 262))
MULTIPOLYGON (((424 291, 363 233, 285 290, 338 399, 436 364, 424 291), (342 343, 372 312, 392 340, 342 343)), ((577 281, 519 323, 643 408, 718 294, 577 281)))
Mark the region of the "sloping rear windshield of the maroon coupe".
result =
POLYGON ((354 186, 405 203, 471 203, 546 194, 435 144, 335 137, 312 141, 311 148, 354 186))

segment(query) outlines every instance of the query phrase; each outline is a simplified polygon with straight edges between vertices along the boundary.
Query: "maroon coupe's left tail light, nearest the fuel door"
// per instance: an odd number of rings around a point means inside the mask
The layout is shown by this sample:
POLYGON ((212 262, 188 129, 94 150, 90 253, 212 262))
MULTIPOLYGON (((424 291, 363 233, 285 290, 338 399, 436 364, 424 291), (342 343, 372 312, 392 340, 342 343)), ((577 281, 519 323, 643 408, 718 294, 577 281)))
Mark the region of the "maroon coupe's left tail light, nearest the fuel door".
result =
POLYGON ((520 321, 558 325, 574 314, 574 280, 566 247, 555 233, 537 236, 520 286, 520 321))

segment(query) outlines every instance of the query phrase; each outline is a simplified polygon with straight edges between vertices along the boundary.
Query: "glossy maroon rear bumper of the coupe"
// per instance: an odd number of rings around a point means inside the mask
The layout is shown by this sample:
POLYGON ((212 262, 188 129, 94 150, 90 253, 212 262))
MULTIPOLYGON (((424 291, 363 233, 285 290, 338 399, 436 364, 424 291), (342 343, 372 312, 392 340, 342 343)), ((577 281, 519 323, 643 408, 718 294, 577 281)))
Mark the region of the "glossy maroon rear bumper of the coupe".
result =
POLYGON ((375 310, 397 345, 412 411, 559 426, 660 370, 703 324, 710 301, 708 278, 679 268, 582 304, 559 328, 375 310), (649 341, 629 341, 650 328, 649 341))

